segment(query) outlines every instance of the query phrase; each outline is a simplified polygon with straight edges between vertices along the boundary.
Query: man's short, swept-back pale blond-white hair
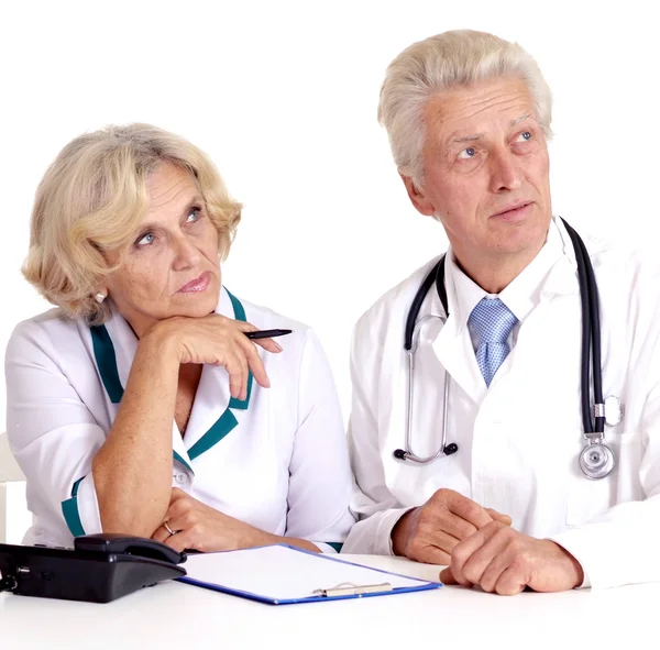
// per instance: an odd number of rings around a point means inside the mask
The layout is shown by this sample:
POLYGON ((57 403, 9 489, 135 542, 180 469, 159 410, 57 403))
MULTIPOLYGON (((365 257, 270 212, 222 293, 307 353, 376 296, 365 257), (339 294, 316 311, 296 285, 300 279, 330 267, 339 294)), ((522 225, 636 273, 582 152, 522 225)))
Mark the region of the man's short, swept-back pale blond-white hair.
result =
POLYGON ((387 67, 378 121, 387 130, 399 172, 424 184, 424 108, 435 95, 499 77, 517 77, 529 90, 546 137, 552 137, 552 95, 535 59, 517 43, 457 30, 404 49, 387 67))

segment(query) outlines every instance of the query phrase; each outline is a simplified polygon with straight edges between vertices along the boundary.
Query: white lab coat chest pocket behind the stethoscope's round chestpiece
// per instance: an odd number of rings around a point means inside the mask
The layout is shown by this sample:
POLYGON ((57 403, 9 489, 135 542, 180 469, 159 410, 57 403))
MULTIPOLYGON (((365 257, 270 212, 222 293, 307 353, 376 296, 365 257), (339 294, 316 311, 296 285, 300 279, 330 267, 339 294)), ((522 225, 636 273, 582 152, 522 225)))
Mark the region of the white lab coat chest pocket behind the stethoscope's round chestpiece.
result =
POLYGON ((569 477, 566 526, 580 526, 619 503, 639 498, 641 434, 638 431, 618 433, 616 428, 606 430, 605 444, 614 453, 614 470, 603 478, 587 478, 578 463, 582 448, 575 453, 569 477))

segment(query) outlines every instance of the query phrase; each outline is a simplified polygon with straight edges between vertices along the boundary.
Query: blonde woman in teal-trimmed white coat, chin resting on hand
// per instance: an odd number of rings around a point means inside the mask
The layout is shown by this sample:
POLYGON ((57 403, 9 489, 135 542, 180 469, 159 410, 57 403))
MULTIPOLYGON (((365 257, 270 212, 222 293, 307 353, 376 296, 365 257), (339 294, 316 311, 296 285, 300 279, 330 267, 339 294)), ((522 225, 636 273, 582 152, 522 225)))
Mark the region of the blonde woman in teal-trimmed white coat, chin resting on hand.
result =
POLYGON ((25 543, 341 546, 332 376, 309 328, 222 285, 240 216, 202 152, 146 124, 77 137, 46 172, 23 272, 57 309, 20 323, 6 357, 25 543), (293 333, 246 337, 274 328, 293 333))

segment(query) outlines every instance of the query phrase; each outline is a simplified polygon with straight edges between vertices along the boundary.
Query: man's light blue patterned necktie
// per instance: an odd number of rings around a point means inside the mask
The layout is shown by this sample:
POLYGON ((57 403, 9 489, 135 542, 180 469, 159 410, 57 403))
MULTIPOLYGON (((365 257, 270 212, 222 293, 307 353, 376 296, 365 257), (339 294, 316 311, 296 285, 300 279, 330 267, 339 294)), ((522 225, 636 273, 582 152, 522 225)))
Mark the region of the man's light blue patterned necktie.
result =
POLYGON ((476 363, 486 386, 491 385, 497 368, 510 348, 507 339, 518 319, 499 298, 483 298, 470 315, 470 324, 479 335, 476 363))

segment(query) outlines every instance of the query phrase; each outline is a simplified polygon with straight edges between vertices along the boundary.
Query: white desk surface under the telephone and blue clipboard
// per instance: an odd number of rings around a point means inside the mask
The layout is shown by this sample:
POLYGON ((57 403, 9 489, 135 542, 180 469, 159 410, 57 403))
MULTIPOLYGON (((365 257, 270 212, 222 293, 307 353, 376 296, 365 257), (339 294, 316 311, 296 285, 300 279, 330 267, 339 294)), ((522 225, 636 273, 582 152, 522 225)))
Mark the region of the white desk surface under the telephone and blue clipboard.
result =
MULTIPOLYGON (((344 555, 436 580, 438 568, 344 555)), ((272 606, 182 583, 97 605, 0 594, 0 650, 660 647, 660 584, 514 597, 438 591, 272 606), (644 646, 642 646, 644 643, 644 646)))

